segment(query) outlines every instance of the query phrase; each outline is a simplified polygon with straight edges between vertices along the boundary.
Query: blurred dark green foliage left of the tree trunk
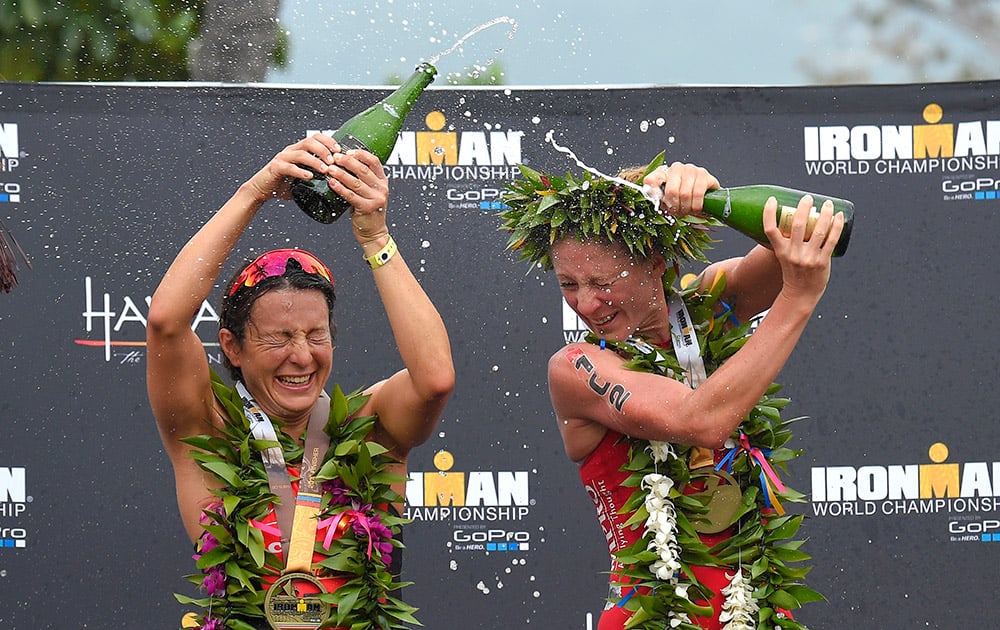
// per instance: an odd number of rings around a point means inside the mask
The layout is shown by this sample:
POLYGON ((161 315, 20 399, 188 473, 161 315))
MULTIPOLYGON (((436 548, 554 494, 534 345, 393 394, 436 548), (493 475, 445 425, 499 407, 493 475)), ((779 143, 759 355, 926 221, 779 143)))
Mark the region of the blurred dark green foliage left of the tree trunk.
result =
POLYGON ((204 0, 0 0, 0 79, 180 81, 204 0))

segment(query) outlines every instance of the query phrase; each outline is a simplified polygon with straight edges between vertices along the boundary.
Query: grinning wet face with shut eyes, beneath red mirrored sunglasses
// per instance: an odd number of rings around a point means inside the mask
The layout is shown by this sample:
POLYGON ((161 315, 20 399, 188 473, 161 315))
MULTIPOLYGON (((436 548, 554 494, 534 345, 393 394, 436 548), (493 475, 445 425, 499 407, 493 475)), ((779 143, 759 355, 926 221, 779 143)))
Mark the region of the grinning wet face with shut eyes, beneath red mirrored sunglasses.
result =
POLYGON ((222 349, 261 408, 291 426, 308 421, 330 376, 330 309, 315 290, 278 289, 254 302, 246 337, 219 331, 222 349))

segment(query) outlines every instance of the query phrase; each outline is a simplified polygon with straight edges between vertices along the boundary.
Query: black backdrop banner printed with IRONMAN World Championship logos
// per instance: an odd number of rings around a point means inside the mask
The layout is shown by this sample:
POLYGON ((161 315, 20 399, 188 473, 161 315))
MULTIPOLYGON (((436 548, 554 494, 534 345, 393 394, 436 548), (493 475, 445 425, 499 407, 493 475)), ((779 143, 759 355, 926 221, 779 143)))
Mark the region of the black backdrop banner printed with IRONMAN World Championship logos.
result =
MULTIPOLYGON (((236 187, 381 89, 0 84, 0 218, 32 259, 0 294, 0 625, 173 628, 195 595, 145 392, 145 316, 236 187)), ((581 326, 505 250, 517 164, 701 164, 723 185, 851 199, 846 256, 780 376, 805 450, 789 482, 827 602, 813 628, 983 627, 1000 556, 1000 82, 864 87, 432 87, 386 169, 391 229, 439 307, 458 382, 411 457, 404 592, 424 626, 590 630, 607 552, 562 451, 546 361, 581 326), (431 143, 444 147, 435 153, 431 143), (526 273, 527 272, 527 273, 526 273), (435 497, 452 496, 448 505, 435 497), (995 543, 995 544, 993 544, 995 543)), ((271 202, 223 271, 273 247, 333 269, 333 380, 398 369, 346 225, 271 202)), ((717 232, 710 255, 745 237, 717 232)), ((193 323, 213 365, 217 290, 193 323)))

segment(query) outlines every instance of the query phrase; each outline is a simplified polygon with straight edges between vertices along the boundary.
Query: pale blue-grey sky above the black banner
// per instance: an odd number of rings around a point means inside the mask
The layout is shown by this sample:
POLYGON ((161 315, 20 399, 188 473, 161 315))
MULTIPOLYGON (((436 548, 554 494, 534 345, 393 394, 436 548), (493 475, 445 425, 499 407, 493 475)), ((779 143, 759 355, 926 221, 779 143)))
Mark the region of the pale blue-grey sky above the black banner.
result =
POLYGON ((512 39, 509 25, 497 24, 441 59, 439 72, 496 59, 510 86, 805 84, 797 68, 804 54, 840 61, 854 54, 843 45, 849 6, 846 0, 282 0, 291 63, 268 81, 384 85, 476 26, 507 16, 517 22, 512 39))

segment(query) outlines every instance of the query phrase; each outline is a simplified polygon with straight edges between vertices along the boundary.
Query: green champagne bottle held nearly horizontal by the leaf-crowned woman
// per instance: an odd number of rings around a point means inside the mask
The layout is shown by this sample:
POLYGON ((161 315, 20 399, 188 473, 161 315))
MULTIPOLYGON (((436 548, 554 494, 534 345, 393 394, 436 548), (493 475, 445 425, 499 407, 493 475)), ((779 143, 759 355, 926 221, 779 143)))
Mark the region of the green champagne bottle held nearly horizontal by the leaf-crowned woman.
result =
POLYGON ((778 229, 788 236, 791 234, 795 209, 804 195, 812 195, 815 204, 806 226, 807 239, 812 235, 816 219, 819 217, 819 208, 826 200, 833 202, 835 213, 844 215, 844 231, 840 234, 840 240, 833 250, 834 256, 843 256, 851 240, 851 228, 854 226, 854 204, 846 199, 767 184, 734 186, 708 191, 705 194, 703 212, 746 234, 761 245, 770 247, 767 235, 764 234, 764 204, 767 203, 768 197, 778 200, 778 229))

